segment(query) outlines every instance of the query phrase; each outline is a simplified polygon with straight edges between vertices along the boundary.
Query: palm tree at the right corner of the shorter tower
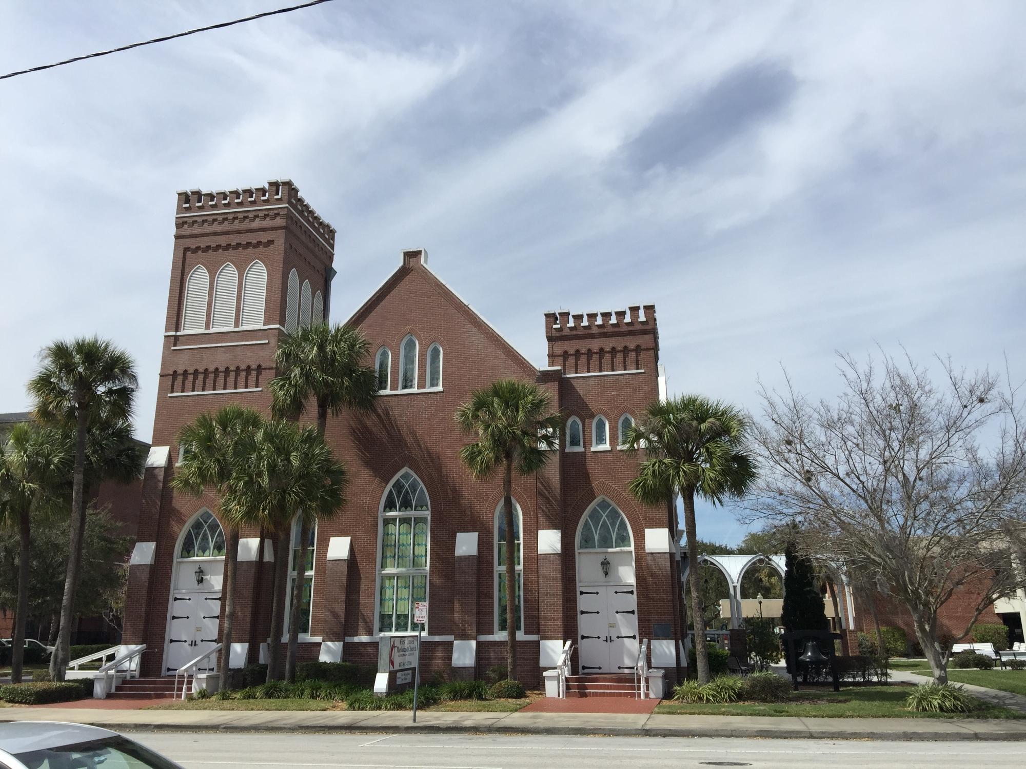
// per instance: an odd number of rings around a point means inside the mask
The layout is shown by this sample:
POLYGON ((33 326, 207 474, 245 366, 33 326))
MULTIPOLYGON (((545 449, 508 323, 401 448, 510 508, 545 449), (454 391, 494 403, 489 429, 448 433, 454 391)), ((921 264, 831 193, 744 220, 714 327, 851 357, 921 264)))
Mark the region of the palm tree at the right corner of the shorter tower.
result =
POLYGON ((695 657, 700 683, 709 682, 705 619, 699 591, 698 535, 695 495, 713 504, 739 497, 755 481, 755 462, 745 451, 748 421, 742 412, 721 401, 685 395, 653 403, 643 420, 627 432, 631 449, 642 449, 645 459, 628 485, 647 504, 674 504, 680 494, 687 537, 688 584, 695 623, 695 657))

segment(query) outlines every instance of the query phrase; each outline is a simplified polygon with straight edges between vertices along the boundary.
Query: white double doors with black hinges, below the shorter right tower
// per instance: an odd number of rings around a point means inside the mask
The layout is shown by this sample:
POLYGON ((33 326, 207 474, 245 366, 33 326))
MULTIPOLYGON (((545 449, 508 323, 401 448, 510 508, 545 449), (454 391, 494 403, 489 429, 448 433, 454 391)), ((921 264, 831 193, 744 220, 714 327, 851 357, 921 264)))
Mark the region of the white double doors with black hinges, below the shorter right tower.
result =
POLYGON ((634 585, 582 585, 578 594, 581 675, 633 671, 639 648, 634 585))

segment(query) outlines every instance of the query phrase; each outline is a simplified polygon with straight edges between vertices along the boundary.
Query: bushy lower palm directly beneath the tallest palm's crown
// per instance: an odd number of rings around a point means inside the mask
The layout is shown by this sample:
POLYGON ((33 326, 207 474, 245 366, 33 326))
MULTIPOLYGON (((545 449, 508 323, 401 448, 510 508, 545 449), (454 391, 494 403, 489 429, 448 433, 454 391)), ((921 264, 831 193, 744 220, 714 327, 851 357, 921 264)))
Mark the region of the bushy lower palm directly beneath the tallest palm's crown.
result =
POLYGON ((346 470, 324 439, 312 427, 275 419, 266 422, 249 445, 239 472, 232 475, 222 507, 231 516, 261 520, 277 535, 278 556, 272 578, 271 640, 268 645, 268 680, 277 676, 279 639, 284 612, 279 604, 288 565, 293 522, 300 540, 293 555, 297 578, 292 585, 288 620, 288 653, 285 679, 295 679, 295 650, 300 635, 300 609, 306 580, 300 565, 309 559, 310 526, 333 516, 345 503, 346 470))

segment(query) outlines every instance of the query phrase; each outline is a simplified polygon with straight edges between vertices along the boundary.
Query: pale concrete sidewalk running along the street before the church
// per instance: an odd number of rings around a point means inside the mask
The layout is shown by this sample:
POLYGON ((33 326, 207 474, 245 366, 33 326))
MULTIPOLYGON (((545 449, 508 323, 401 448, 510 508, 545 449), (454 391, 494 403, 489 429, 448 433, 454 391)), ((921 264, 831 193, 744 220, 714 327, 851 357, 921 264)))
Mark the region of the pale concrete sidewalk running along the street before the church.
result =
POLYGON ((73 721, 118 731, 471 732, 656 737, 873 740, 1022 740, 1026 720, 814 719, 602 713, 101 711, 4 707, 0 721, 73 721))

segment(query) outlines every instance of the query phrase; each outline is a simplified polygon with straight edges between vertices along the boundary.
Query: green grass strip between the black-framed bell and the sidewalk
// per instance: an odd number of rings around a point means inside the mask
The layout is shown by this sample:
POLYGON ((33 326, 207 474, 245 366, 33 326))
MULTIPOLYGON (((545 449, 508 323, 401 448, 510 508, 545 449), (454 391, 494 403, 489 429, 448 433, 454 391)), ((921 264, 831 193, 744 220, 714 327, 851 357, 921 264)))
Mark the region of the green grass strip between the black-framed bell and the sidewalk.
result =
POLYGON ((797 716, 815 718, 978 718, 1022 719, 1026 714, 978 702, 970 714, 914 713, 905 710, 907 686, 867 686, 793 692, 787 702, 733 702, 731 704, 684 704, 664 702, 657 714, 698 716, 797 716))

